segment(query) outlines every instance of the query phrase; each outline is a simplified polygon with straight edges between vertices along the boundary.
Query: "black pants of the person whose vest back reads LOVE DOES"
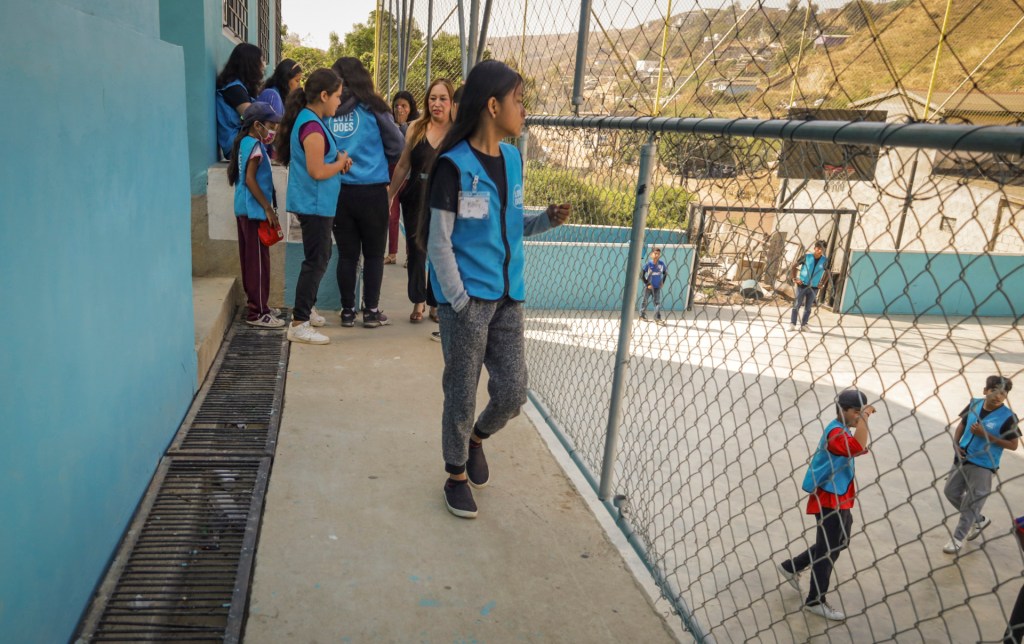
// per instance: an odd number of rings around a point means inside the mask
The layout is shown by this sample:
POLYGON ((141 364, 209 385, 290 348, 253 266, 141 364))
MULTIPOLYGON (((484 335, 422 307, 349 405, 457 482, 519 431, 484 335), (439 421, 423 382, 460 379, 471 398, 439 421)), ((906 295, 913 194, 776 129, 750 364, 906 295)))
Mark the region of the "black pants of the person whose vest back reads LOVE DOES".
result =
POLYGON ((355 270, 362 254, 362 302, 377 308, 387 248, 387 184, 342 185, 334 218, 342 308, 355 308, 355 270))

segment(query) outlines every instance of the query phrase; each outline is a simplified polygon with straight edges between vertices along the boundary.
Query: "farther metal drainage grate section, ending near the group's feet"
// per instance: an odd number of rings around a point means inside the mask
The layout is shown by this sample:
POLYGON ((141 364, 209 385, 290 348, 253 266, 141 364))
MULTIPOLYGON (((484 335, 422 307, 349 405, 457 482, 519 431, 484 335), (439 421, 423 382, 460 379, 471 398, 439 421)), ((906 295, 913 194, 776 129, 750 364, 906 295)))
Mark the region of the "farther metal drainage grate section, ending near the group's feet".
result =
POLYGON ((236 323, 168 454, 272 455, 288 355, 283 332, 236 323))

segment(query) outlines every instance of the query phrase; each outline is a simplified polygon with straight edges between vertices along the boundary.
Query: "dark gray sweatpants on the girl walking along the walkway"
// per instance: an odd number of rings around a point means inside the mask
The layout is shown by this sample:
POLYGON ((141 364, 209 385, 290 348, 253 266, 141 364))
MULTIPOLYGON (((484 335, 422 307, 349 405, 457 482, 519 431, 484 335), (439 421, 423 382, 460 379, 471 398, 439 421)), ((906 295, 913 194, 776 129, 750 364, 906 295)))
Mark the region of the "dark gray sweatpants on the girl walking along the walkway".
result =
POLYGON ((526 403, 522 304, 509 299, 471 299, 458 313, 441 304, 437 315, 444 354, 441 453, 444 470, 461 474, 466 470, 474 420, 477 433, 487 437, 518 416, 526 403), (490 400, 475 418, 481 367, 487 368, 490 400))

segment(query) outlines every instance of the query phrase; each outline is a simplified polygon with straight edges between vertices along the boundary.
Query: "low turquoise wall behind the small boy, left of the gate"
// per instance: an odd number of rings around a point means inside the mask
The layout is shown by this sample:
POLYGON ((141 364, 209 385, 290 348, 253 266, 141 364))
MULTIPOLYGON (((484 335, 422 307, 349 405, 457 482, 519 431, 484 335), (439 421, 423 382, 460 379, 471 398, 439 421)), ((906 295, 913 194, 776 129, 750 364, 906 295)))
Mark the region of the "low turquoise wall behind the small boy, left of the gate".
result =
MULTIPOLYGON (((647 231, 645 241, 651 232, 647 231)), ((650 246, 648 244, 647 248, 650 246)), ((669 280, 662 290, 662 310, 686 310, 693 247, 659 246, 662 259, 669 270, 669 280)), ((530 241, 526 242, 525 249, 526 308, 599 311, 622 308, 624 273, 630 253, 628 244, 530 241)), ((639 272, 637 283, 639 305, 643 287, 639 272)))

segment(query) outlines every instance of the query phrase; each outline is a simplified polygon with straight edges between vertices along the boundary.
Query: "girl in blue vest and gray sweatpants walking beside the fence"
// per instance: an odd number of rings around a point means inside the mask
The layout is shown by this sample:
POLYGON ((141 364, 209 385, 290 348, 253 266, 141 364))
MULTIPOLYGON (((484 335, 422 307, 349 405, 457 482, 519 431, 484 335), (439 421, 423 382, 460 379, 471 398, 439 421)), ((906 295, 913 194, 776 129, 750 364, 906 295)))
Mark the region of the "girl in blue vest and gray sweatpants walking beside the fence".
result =
POLYGON ((444 503, 467 519, 477 514, 469 486, 490 480, 483 440, 526 402, 523 237, 561 225, 570 213, 568 204, 523 213, 522 158, 502 142, 522 132, 522 77, 505 63, 484 60, 472 69, 427 179, 430 211, 420 229, 428 233, 417 235, 426 238, 444 356, 444 503), (490 399, 477 417, 482 367, 490 399))

